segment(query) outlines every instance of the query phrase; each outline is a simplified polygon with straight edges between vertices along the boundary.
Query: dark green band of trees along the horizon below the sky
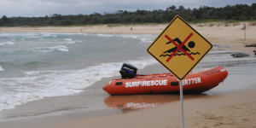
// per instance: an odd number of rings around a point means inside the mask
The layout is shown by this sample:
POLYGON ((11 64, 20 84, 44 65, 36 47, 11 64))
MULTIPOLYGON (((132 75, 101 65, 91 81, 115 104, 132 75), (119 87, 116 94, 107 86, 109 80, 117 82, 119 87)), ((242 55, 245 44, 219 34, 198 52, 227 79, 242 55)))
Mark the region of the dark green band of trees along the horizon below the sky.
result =
MULTIPOLYGON (((175 15, 192 23, 212 21, 241 21, 256 20, 256 3, 252 5, 236 4, 224 8, 201 7, 199 9, 185 9, 171 6, 166 10, 140 10, 129 12, 119 10, 113 14, 92 15, 51 15, 44 17, 6 17, 0 19, 0 26, 81 26, 96 24, 138 24, 138 23, 167 23, 175 15)), ((111 25, 109 25, 111 26, 111 25)))

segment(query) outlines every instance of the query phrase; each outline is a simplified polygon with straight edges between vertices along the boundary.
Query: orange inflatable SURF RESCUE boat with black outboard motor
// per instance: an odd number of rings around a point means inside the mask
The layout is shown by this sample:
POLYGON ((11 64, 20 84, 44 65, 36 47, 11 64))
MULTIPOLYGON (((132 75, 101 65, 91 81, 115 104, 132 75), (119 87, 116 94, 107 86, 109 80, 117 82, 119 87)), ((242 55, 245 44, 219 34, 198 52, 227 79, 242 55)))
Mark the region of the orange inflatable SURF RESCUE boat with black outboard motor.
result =
MULTIPOLYGON (((137 75, 137 68, 129 64, 124 64, 119 72, 122 79, 113 79, 102 88, 110 95, 179 93, 178 79, 172 73, 137 75)), ((189 73, 182 80, 183 92, 201 93, 211 90, 227 76, 228 72, 224 67, 189 73)))

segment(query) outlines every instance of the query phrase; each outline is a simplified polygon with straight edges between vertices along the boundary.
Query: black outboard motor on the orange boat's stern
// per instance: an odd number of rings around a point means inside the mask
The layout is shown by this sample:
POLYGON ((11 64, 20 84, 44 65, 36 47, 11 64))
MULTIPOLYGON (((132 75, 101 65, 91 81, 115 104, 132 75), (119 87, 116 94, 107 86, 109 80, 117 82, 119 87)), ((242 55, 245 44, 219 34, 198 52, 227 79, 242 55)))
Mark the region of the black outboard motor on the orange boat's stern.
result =
POLYGON ((132 79, 137 75, 137 67, 124 63, 119 73, 121 74, 122 79, 132 79))

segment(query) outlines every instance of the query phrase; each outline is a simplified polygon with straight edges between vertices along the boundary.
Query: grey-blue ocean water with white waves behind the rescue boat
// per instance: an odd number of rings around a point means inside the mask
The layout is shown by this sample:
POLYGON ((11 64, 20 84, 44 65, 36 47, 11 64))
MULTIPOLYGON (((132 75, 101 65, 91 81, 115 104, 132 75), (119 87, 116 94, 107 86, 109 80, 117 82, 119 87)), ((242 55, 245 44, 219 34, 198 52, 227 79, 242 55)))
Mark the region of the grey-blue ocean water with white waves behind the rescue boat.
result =
MULTIPOLYGON (((70 96, 119 75, 123 62, 139 69, 158 64, 146 49, 157 35, 0 33, 0 110, 50 96, 70 96)), ((218 94, 253 85, 255 57, 233 58, 214 46, 194 71, 222 66, 231 77, 209 90, 218 94), (244 74, 247 77, 241 78, 244 74), (237 79, 234 79, 237 78, 237 79), (235 82, 234 82, 235 81, 235 82), (236 83, 234 85, 234 83, 236 83)))

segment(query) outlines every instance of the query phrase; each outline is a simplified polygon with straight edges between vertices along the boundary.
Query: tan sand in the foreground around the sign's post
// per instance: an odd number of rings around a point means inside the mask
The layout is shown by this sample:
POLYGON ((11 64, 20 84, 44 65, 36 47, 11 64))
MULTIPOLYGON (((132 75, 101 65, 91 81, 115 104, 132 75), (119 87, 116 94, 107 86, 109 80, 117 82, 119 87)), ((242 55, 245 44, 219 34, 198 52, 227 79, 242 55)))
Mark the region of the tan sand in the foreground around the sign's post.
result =
MULTIPOLYGON (((185 126, 255 127, 255 88, 230 92, 218 96, 184 96, 185 126)), ((93 119, 80 119, 54 127, 180 127, 179 102, 160 108, 117 114, 93 119)))

